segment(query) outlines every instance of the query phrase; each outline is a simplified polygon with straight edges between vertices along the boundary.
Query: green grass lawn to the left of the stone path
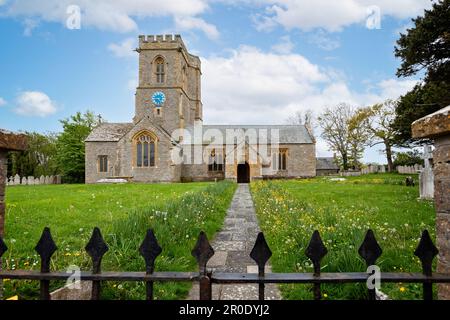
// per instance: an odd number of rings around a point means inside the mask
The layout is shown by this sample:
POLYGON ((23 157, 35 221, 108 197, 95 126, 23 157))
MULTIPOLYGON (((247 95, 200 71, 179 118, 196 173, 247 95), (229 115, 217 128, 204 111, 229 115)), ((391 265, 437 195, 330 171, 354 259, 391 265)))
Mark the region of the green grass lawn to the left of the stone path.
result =
MULTIPOLYGON (((190 250, 204 230, 209 237, 223 223, 235 185, 221 183, 17 186, 6 190, 7 213, 3 256, 7 269, 39 269, 34 247, 44 227, 51 229, 58 251, 53 270, 70 265, 91 268, 84 247, 99 227, 110 250, 103 270, 143 271, 138 253, 148 228, 163 248, 156 270, 194 271, 190 250)), ((56 289, 62 283, 52 283, 56 289)), ((182 298, 189 284, 155 285, 158 299, 182 298)), ((5 296, 37 297, 38 283, 5 281, 5 296)), ((143 284, 106 283, 104 297, 142 299, 143 284)))

